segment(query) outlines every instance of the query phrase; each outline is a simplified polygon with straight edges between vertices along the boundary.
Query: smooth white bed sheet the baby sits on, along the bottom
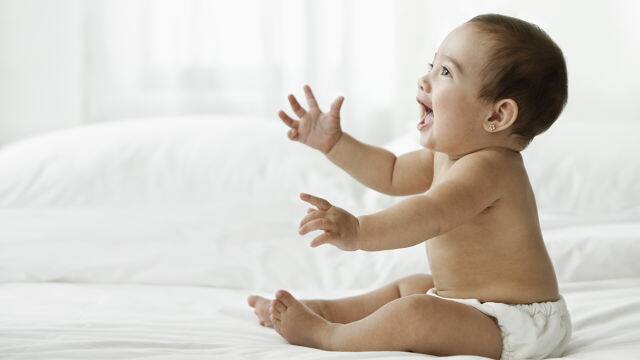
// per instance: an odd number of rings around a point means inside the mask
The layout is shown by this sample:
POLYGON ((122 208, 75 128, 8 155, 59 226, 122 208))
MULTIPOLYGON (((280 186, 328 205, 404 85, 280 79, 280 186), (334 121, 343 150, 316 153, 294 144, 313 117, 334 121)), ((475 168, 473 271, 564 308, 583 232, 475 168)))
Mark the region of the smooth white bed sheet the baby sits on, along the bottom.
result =
MULTIPOLYGON (((574 331, 565 358, 640 358, 640 279, 566 283, 560 289, 574 331)), ((289 290, 302 298, 333 298, 367 289, 289 290)), ((0 284, 0 358, 424 358, 402 352, 326 352, 289 345, 273 329, 257 324, 245 302, 248 294, 247 290, 197 286, 0 284)))

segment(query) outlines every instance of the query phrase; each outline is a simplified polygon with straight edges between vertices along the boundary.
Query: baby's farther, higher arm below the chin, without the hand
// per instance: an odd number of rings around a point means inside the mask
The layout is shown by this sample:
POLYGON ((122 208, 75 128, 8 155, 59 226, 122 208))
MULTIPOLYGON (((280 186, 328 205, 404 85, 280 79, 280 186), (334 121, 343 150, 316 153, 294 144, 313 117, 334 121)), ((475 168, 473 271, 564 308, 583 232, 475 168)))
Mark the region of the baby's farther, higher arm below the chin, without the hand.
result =
POLYGON ((363 185, 387 195, 425 192, 433 179, 433 152, 429 149, 396 157, 343 133, 326 156, 363 185))

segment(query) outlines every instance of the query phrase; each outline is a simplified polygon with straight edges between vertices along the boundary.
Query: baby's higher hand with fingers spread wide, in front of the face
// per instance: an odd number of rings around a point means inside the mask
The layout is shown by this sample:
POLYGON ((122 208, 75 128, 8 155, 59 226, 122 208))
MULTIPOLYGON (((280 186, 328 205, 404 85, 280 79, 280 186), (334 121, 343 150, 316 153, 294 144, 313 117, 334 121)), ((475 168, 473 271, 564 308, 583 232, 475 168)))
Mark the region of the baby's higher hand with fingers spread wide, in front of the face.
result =
POLYGON ((309 110, 300 106, 295 96, 288 96, 291 109, 300 120, 292 119, 282 110, 278 112, 278 116, 290 127, 287 134, 290 140, 299 141, 326 154, 342 136, 340 108, 344 102, 344 97, 339 96, 336 98, 331 104, 329 112, 324 113, 320 110, 309 85, 304 86, 304 94, 307 98, 309 110))

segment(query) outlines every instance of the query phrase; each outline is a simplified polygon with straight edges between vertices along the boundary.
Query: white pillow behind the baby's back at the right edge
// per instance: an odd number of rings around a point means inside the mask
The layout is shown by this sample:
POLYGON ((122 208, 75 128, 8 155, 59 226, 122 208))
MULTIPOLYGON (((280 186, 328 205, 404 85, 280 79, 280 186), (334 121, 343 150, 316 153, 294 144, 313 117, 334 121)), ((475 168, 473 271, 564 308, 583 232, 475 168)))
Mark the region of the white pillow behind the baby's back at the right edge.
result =
POLYGON ((523 158, 541 212, 640 210, 639 121, 558 121, 523 158))

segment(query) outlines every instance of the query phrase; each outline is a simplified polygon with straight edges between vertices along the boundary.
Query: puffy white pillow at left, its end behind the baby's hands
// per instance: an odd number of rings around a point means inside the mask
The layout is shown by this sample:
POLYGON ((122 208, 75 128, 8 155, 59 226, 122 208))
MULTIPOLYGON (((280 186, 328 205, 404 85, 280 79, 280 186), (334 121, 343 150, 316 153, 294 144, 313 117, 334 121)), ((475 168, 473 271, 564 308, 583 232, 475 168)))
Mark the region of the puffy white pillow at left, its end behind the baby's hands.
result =
POLYGON ((0 207, 203 206, 221 199, 354 206, 355 184, 273 119, 115 121, 0 148, 0 207))

